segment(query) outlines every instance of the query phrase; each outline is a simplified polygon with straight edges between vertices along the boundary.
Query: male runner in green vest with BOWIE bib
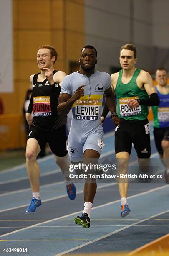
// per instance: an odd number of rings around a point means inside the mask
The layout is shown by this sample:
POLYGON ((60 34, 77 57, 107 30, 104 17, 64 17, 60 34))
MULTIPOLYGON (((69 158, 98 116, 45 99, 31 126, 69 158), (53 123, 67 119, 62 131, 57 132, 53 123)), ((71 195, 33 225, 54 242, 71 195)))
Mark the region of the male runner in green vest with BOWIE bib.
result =
MULTIPOLYGON (((148 107, 159 105, 159 97, 154 89, 150 74, 135 68, 136 47, 126 44, 120 49, 122 69, 111 74, 111 85, 117 96, 118 116, 121 119, 115 129, 115 152, 118 159, 119 174, 127 174, 132 143, 138 156, 140 169, 147 172, 151 155, 148 107), (145 167, 147 166, 147 167, 145 167)), ((102 121, 108 113, 105 106, 102 121)), ((127 203, 128 179, 118 180, 121 196, 121 217, 130 213, 127 203)))

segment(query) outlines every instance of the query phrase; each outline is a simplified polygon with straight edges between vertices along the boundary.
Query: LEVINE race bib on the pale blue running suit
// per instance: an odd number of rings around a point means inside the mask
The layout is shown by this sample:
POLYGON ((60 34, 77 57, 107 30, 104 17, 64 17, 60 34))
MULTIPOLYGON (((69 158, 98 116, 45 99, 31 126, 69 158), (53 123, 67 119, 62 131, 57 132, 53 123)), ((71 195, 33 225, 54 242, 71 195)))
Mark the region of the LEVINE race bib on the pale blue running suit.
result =
POLYGON ((98 120, 100 111, 100 99, 79 99, 76 100, 75 107, 75 118, 77 120, 98 120))

